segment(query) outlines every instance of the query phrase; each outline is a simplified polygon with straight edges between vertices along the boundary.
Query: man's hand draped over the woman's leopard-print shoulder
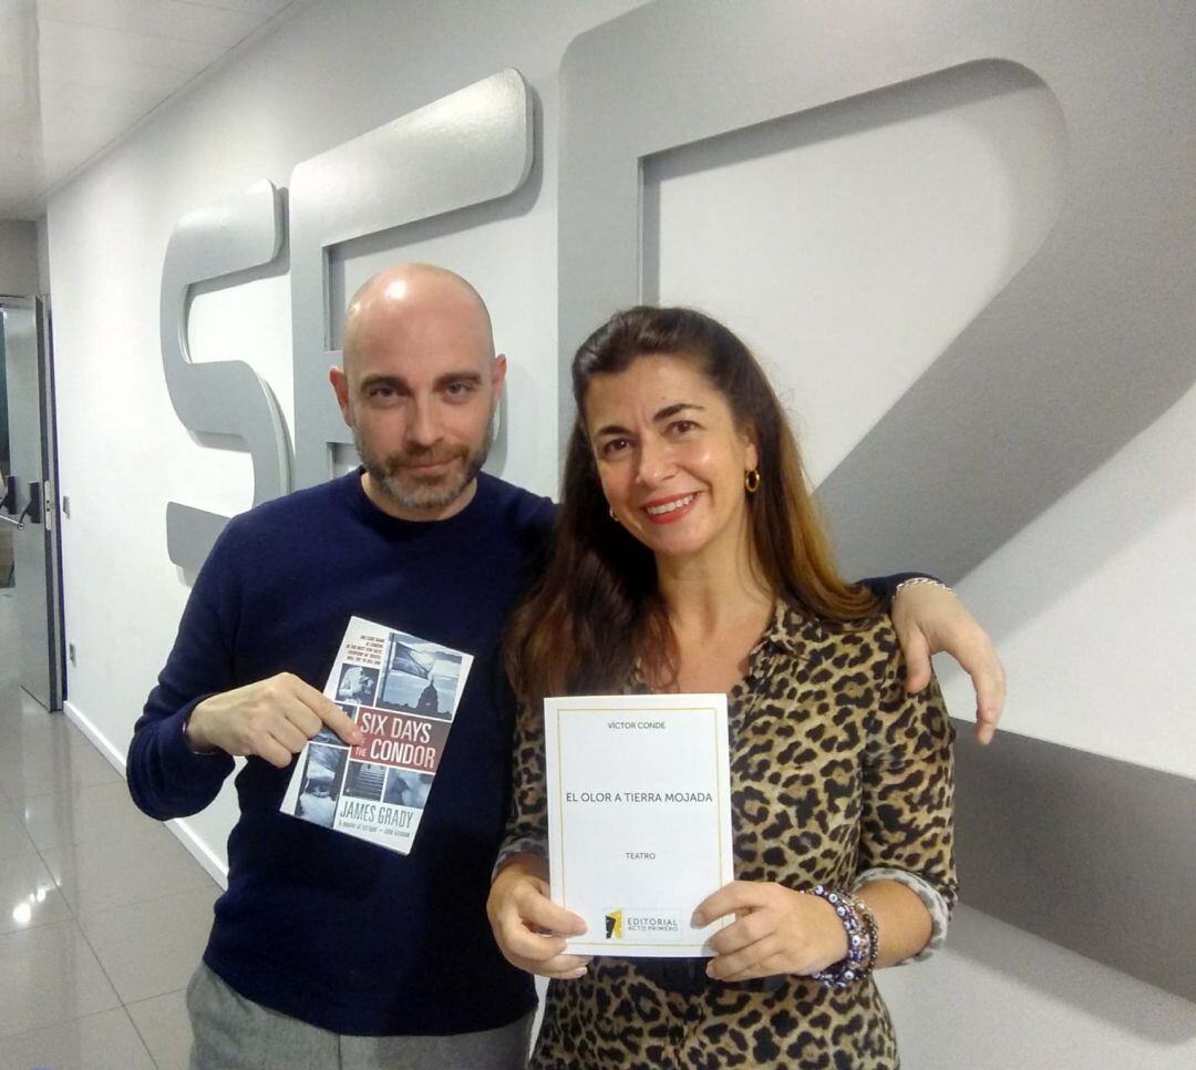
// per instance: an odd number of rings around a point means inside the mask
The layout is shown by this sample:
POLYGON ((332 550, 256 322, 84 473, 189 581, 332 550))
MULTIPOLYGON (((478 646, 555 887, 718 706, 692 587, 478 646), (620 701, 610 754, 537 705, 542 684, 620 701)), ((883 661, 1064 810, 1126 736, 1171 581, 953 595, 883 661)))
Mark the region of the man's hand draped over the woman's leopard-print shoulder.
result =
POLYGON ((930 656, 950 653, 972 679, 976 738, 988 743, 1005 706, 1005 668, 993 640, 951 589, 939 583, 899 586, 891 615, 905 655, 905 689, 926 687, 930 682, 930 656))

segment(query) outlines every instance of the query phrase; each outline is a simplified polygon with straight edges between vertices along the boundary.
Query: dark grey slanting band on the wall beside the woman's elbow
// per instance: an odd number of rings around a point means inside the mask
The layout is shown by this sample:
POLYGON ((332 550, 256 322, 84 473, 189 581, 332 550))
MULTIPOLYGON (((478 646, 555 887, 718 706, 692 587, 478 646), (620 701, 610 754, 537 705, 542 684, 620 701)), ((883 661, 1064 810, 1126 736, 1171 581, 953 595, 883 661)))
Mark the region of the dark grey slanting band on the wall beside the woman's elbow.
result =
MULTIPOLYGON (((970 724, 956 726, 963 900, 1196 999, 1196 780, 1012 732, 982 748, 970 724)), ((1147 1025, 1136 1011, 1088 1007, 1078 978, 1035 977, 1000 946, 953 947, 1056 996, 1070 985, 1072 1002, 1127 1028, 1147 1025)))

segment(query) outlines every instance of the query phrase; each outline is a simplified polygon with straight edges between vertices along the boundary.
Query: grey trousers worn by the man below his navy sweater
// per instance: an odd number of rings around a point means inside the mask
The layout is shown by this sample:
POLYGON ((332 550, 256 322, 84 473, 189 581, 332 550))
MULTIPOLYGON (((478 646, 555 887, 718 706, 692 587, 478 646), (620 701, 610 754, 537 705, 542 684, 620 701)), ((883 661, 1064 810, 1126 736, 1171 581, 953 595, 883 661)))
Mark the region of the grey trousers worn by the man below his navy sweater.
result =
POLYGON ((533 1019, 453 1036, 341 1036, 246 999, 202 962, 187 1010, 190 1070, 521 1070, 533 1019))

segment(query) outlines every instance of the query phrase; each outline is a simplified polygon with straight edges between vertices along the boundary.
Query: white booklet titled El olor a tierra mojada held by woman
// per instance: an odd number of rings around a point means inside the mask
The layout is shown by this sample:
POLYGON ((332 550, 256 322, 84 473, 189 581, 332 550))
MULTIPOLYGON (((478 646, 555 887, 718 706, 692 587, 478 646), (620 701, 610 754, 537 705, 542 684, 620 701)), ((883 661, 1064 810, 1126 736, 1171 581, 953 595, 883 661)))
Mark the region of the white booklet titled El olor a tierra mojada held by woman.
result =
POLYGON ((569 950, 709 956, 728 918, 694 908, 733 880, 727 697, 544 700, 554 901, 580 914, 569 950))

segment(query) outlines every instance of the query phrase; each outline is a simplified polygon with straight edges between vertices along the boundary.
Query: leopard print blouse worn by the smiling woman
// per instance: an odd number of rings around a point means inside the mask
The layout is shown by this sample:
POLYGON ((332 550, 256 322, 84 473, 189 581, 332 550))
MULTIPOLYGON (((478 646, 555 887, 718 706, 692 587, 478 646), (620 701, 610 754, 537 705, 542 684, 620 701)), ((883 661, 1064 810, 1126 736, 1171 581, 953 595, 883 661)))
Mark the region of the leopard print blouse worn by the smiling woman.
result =
MULTIPOLYGON (((903 677, 887 616, 842 625, 777 607, 728 695, 739 880, 847 887, 887 868, 953 905, 954 732, 938 683, 908 695, 903 677)), ((504 855, 547 853, 545 797, 542 719, 525 710, 504 855)), ((551 981, 531 1065, 898 1066, 871 977, 842 992, 786 975, 770 991, 708 981, 683 995, 651 973, 596 957, 581 979, 551 981)))

